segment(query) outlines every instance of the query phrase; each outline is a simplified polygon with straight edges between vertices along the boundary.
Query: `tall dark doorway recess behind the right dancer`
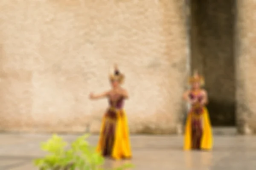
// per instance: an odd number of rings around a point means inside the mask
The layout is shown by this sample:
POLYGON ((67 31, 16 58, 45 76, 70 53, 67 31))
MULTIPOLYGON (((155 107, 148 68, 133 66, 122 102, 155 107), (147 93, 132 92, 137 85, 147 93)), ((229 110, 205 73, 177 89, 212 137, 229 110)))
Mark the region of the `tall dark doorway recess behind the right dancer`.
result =
POLYGON ((190 0, 191 69, 205 77, 214 126, 234 126, 235 0, 190 0))

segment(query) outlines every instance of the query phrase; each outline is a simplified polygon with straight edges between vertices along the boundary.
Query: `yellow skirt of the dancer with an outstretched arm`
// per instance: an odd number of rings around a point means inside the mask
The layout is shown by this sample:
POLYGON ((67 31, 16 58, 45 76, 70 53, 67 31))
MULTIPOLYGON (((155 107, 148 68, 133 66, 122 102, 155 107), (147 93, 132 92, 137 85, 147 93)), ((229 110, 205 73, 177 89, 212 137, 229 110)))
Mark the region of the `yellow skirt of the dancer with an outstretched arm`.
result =
POLYGON ((108 115, 102 119, 99 143, 96 150, 104 156, 106 149, 110 150, 110 156, 113 159, 129 159, 132 156, 128 121, 124 110, 117 110, 115 119, 108 115), (110 139, 111 134, 106 132, 106 129, 109 128, 113 131, 110 139), (107 140, 113 141, 107 142, 107 140))

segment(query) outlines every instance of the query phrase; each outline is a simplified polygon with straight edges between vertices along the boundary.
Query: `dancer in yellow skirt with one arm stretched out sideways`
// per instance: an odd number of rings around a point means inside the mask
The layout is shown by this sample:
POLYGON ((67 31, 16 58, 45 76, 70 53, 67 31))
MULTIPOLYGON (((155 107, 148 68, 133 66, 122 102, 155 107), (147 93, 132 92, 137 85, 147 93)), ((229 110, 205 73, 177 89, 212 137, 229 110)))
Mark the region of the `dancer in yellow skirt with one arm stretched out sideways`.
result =
POLYGON ((97 151, 105 157, 113 159, 131 158, 128 122, 123 109, 124 100, 128 93, 121 88, 124 75, 115 66, 114 73, 110 74, 112 89, 103 94, 90 94, 90 99, 108 98, 109 108, 102 119, 101 132, 97 151))

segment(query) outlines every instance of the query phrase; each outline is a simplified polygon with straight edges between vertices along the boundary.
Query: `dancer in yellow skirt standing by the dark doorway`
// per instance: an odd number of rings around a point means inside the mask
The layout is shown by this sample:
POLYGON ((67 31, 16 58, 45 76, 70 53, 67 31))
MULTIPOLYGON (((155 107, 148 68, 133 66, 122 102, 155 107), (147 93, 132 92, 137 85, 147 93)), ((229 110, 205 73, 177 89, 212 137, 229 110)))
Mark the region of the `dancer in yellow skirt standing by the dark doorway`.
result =
POLYGON ((212 127, 205 107, 208 96, 207 91, 201 88, 204 85, 204 78, 195 72, 189 83, 191 89, 183 96, 192 106, 186 120, 184 150, 211 150, 212 127))

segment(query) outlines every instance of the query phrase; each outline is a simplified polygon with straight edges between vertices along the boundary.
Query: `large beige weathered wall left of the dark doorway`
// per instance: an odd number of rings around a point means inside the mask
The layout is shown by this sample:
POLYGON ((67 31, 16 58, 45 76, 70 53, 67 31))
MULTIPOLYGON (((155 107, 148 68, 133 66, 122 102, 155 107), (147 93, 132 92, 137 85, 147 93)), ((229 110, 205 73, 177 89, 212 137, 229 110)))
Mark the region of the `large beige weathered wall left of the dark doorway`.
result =
POLYGON ((184 0, 1 0, 0 129, 99 132, 108 104, 88 96, 116 62, 131 132, 177 132, 185 20, 184 0))

